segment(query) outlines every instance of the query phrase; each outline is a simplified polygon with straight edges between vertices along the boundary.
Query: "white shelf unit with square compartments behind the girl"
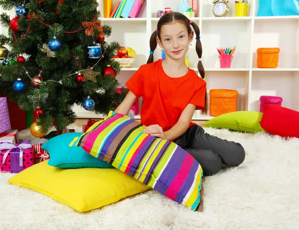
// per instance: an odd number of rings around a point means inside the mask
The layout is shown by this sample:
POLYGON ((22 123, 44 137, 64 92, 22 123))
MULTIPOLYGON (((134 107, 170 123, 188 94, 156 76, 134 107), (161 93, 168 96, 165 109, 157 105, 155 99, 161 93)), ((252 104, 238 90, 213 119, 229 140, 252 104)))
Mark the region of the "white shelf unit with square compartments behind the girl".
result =
MULTIPOLYGON (((117 79, 124 86, 140 65, 149 57, 149 38, 156 29, 156 12, 171 7, 179 11, 181 0, 146 0, 139 18, 102 18, 103 24, 112 26, 107 41, 119 41, 131 46, 138 56, 132 68, 124 68, 117 79)), ((114 0, 114 6, 118 0, 114 0)), ((207 90, 233 89, 239 92, 237 110, 259 111, 262 95, 280 96, 282 106, 299 110, 299 15, 258 17, 259 0, 249 0, 248 16, 235 16, 235 2, 230 0, 229 14, 215 17, 212 0, 199 0, 199 17, 190 18, 200 28, 203 47, 203 66, 207 90), (216 47, 236 46, 230 69, 221 69, 216 47), (279 67, 257 68, 257 48, 280 47, 279 67)), ((156 48, 154 59, 161 57, 156 48)), ((187 53, 189 67, 197 71, 195 39, 187 53)), ((198 71, 197 71, 198 73, 198 71)), ((83 108, 74 108, 78 117, 102 118, 83 108)), ((140 118, 140 114, 135 117, 140 118)), ((193 120, 209 120, 212 117, 195 111, 193 120)))

